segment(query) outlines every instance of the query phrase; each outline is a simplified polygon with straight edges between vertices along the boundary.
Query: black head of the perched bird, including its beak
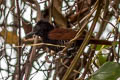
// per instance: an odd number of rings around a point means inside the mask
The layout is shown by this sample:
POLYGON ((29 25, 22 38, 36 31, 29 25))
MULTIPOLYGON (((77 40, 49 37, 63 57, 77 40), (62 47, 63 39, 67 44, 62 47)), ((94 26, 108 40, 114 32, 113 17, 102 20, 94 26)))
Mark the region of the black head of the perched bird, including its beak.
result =
POLYGON ((40 20, 33 28, 33 31, 28 33, 27 36, 32 36, 33 34, 35 34, 42 37, 43 39, 47 39, 49 32, 53 29, 53 25, 51 25, 49 22, 40 20))

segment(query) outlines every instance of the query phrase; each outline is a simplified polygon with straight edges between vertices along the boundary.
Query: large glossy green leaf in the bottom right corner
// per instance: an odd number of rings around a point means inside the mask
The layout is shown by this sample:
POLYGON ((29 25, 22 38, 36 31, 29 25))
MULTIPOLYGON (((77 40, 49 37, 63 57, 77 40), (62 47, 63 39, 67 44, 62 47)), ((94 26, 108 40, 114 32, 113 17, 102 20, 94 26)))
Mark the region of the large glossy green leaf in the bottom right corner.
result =
POLYGON ((106 62, 89 80, 117 80, 120 77, 120 64, 106 62))

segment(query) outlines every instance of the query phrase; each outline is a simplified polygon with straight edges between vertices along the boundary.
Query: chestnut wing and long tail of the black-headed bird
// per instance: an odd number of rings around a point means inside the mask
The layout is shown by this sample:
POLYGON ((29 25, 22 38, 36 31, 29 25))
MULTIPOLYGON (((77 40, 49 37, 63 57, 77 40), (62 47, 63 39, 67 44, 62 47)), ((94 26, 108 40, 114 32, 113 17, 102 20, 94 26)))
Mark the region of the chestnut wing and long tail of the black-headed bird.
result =
MULTIPOLYGON (((75 37, 77 31, 72 29, 63 29, 63 28, 56 28, 49 32, 48 37, 52 40, 71 40, 75 37)), ((77 40, 83 41, 85 38, 85 33, 80 36, 77 40)), ((91 37, 89 43, 91 44, 103 44, 103 45, 112 45, 112 41, 108 40, 99 40, 95 39, 93 36, 91 37)))

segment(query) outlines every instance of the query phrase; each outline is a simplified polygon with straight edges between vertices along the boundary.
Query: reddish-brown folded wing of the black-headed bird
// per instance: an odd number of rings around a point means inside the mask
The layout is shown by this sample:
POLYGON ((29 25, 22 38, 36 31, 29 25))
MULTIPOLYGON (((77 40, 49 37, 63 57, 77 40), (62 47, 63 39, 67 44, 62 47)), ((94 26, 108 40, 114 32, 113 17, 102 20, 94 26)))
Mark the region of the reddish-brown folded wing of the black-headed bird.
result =
MULTIPOLYGON (((75 37, 77 31, 72 29, 64 29, 64 28, 55 28, 50 31, 48 37, 52 40, 71 40, 75 37)), ((80 38, 84 38, 85 36, 81 36, 80 38)))

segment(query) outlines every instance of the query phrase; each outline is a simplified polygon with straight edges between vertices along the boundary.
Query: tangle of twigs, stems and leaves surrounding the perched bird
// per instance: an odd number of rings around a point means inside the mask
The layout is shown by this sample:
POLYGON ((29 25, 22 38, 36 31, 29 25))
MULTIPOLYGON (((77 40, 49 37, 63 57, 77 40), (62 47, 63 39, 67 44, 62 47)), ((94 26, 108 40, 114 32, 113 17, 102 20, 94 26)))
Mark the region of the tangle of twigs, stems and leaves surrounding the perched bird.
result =
POLYGON ((41 78, 38 74, 46 80, 117 79, 119 6, 120 0, 0 0, 0 80, 35 80, 41 78), (67 45, 38 43, 38 37, 24 41, 24 34, 40 19, 78 33, 67 45), (70 49, 84 31, 85 38, 80 46, 74 46, 72 57, 63 56, 61 52, 70 49), (102 44, 96 44, 101 39, 102 44), (45 45, 65 48, 54 52, 45 45))

